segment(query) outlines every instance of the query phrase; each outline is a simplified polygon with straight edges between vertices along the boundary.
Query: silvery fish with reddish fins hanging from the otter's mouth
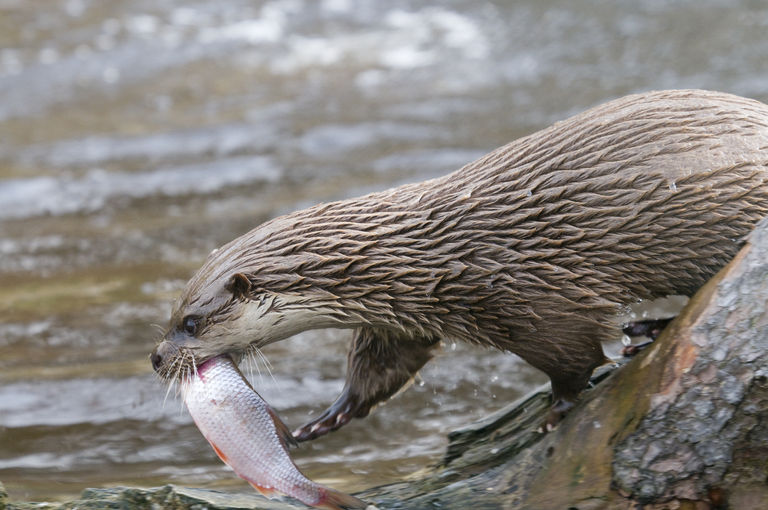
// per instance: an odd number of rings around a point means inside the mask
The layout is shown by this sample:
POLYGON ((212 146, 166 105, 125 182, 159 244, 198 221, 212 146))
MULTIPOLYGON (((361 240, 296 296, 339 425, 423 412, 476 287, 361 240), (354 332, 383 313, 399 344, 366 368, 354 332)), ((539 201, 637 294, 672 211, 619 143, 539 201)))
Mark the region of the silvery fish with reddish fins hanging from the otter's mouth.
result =
POLYGON ((212 358, 182 380, 192 419, 213 450, 234 472, 267 497, 275 493, 329 510, 367 504, 304 476, 288 454, 296 444, 288 427, 253 389, 227 355, 212 358))

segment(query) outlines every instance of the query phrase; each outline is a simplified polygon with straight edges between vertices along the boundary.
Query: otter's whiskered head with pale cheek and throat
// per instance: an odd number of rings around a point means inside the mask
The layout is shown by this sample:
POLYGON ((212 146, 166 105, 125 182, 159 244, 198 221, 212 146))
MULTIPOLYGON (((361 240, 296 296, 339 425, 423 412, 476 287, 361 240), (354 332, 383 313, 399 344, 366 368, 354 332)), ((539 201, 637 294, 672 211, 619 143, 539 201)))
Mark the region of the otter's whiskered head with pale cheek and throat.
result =
POLYGON ((336 322, 325 300, 257 286, 252 271, 233 268, 231 252, 218 251, 187 283, 150 355, 164 379, 182 378, 221 354, 238 362, 249 349, 336 322))

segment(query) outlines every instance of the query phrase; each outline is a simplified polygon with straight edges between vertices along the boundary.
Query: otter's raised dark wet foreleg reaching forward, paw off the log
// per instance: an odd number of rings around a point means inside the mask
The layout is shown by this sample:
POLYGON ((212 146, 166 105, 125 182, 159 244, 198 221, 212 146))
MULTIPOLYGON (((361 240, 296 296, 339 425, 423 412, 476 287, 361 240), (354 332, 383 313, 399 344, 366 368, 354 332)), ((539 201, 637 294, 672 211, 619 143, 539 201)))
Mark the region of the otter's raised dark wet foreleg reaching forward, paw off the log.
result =
POLYGON ((363 418, 376 404, 410 382, 432 358, 435 338, 406 336, 375 328, 356 331, 347 356, 347 380, 336 401, 317 419, 296 429, 297 441, 315 439, 352 418, 363 418))

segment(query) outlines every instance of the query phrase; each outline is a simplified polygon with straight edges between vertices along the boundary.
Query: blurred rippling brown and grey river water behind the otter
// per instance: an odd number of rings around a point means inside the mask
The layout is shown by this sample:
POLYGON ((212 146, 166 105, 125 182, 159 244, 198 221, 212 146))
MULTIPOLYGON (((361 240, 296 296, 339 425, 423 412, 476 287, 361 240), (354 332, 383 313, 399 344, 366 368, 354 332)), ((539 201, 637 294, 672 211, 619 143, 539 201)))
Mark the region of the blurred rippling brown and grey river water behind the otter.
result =
MULTIPOLYGON (((210 250, 628 93, 768 101, 766 55, 760 0, 0 0, 0 481, 17 500, 249 491, 147 358, 210 250)), ((305 333, 265 349, 271 376, 252 367, 289 426, 335 399, 349 338, 305 333)), ((449 342, 295 460, 345 490, 399 480, 543 382, 449 342)))

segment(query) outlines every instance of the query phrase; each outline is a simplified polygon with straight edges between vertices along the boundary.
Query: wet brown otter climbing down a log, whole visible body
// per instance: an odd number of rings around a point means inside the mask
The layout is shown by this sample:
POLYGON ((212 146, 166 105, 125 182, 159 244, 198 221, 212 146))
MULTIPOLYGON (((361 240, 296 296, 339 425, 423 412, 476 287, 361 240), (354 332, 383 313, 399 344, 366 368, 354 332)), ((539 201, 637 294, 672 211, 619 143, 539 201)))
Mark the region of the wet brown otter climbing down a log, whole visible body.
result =
POLYGON ((562 416, 628 305, 692 295, 768 215, 768 106, 618 99, 444 177, 277 217, 214 251, 151 355, 173 379, 298 332, 353 328, 338 399, 298 440, 366 416, 442 339, 517 354, 562 416))

